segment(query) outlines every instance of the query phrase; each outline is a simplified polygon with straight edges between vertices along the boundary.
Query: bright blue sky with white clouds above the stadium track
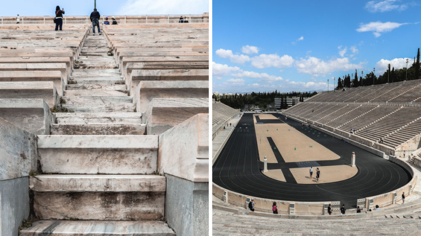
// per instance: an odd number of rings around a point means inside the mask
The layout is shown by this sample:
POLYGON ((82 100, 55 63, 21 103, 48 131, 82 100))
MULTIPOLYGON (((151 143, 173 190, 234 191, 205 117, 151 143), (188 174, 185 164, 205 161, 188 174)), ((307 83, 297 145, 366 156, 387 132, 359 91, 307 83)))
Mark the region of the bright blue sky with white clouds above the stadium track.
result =
POLYGON ((355 69, 402 68, 421 47, 421 0, 212 4, 213 91, 332 89, 355 69))

